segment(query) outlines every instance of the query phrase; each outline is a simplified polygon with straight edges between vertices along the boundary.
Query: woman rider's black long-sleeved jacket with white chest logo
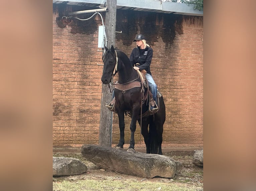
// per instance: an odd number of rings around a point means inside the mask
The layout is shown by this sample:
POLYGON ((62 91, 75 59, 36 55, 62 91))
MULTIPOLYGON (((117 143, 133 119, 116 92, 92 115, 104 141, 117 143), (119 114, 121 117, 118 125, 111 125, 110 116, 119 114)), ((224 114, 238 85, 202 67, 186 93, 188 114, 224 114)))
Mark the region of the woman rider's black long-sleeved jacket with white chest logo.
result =
POLYGON ((130 62, 132 66, 135 66, 136 63, 139 63, 140 64, 140 66, 138 66, 139 69, 140 70, 145 69, 147 71, 147 74, 151 75, 150 64, 151 64, 152 57, 153 57, 152 48, 146 47, 140 55, 139 47, 137 47, 132 50, 132 53, 130 56, 130 62))

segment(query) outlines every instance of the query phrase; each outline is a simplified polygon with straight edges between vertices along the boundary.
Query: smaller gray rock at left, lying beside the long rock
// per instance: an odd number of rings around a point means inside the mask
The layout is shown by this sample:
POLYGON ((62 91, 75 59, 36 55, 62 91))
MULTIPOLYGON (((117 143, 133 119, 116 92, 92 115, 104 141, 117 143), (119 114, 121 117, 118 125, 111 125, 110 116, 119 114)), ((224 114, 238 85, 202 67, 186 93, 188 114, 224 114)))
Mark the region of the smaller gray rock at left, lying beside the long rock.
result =
POLYGON ((76 158, 52 157, 53 176, 69 176, 87 172, 87 166, 76 158))

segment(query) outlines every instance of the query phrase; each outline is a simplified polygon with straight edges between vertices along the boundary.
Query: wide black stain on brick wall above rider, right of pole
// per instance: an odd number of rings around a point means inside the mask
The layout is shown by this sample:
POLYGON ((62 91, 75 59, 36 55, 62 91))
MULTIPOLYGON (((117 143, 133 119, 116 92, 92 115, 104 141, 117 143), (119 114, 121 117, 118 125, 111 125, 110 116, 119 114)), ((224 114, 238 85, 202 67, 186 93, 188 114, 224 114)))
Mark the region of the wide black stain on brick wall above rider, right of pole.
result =
POLYGON ((173 44, 176 34, 183 34, 182 15, 131 10, 117 10, 117 15, 116 31, 122 33, 116 34, 116 40, 122 41, 125 46, 132 45, 136 31, 145 35, 150 45, 158 41, 156 34, 159 34, 165 49, 173 44))

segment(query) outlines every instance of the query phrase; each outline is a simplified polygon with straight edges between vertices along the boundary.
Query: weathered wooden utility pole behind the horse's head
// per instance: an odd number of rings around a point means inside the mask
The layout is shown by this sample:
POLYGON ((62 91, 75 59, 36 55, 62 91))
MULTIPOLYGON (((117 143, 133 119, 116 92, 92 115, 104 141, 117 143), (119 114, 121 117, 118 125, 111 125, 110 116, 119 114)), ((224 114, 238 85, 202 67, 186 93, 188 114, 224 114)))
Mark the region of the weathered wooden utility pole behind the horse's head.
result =
MULTIPOLYGON (((106 5, 108 12, 105 18, 105 30, 107 35, 107 48, 111 45, 115 47, 116 41, 116 1, 107 0, 106 5)), ((110 146, 112 141, 112 112, 105 105, 112 100, 108 85, 102 84, 102 99, 101 99, 101 118, 100 118, 100 136, 99 145, 110 146)))

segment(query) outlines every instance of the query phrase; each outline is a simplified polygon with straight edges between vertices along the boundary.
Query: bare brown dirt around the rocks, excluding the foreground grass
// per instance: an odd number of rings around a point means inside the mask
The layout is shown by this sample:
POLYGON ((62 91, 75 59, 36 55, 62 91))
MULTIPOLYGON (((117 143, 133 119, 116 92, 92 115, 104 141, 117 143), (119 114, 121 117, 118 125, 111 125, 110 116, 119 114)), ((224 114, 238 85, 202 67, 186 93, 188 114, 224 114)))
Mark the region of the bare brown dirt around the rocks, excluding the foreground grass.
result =
POLYGON ((83 179, 94 179, 94 180, 105 180, 107 177, 112 177, 115 180, 132 180, 132 181, 151 181, 151 182, 172 182, 177 184, 193 185, 202 188, 203 190, 203 167, 196 166, 192 163, 194 151, 172 151, 163 152, 163 155, 173 158, 176 162, 179 161, 180 169, 176 170, 175 177, 162 178, 154 177, 151 179, 145 179, 141 177, 120 174, 113 171, 108 171, 99 168, 92 162, 84 159, 81 153, 54 153, 55 157, 73 157, 84 162, 88 168, 87 173, 72 175, 72 176, 60 176, 53 177, 53 181, 60 180, 83 180, 83 179))

